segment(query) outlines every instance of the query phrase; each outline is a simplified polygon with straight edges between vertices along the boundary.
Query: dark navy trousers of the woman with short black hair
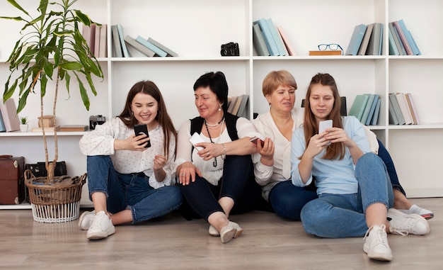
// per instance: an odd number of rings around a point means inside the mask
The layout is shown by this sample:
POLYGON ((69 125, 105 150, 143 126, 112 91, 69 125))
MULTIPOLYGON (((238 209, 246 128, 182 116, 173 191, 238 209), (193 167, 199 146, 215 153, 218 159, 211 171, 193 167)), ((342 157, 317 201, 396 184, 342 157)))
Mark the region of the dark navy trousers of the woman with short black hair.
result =
POLYGON ((255 183, 251 155, 226 156, 224 159, 223 176, 219 184, 214 186, 206 179, 195 175, 195 182, 189 185, 180 185, 185 196, 183 216, 204 218, 215 212, 223 212, 219 198, 229 197, 234 200, 231 213, 244 213, 257 207, 261 199, 260 186, 255 183))

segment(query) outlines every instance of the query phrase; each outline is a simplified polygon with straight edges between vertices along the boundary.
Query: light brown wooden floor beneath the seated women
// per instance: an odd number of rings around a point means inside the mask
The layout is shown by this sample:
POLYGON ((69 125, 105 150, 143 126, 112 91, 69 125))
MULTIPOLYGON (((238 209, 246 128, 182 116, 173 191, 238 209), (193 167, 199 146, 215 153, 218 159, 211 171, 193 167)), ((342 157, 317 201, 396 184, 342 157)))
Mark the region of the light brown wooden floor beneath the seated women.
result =
POLYGON ((369 260, 363 237, 312 237, 301 223, 262 211, 232 216, 243 234, 222 244, 204 220, 179 213, 89 241, 77 220, 37 223, 30 210, 0 210, 0 269, 443 269, 443 198, 411 201, 434 211, 431 232, 389 235, 391 262, 369 260))

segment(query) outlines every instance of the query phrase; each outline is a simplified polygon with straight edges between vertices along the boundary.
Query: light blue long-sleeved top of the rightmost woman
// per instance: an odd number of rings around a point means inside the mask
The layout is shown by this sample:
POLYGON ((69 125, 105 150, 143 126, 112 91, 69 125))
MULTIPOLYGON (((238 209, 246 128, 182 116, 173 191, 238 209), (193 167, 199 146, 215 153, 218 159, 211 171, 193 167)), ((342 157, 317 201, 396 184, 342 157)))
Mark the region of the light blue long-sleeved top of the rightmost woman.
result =
MULTIPOLYGON (((345 116, 343 119, 343 129, 362 150, 364 154, 370 152, 369 142, 364 133, 362 124, 355 116, 345 116)), ((352 162, 350 151, 345 147, 345 157, 343 159, 323 159, 325 150, 313 158, 313 166, 309 180, 304 184, 299 173, 299 163, 301 155, 306 149, 304 141, 303 127, 297 128, 292 135, 291 143, 291 176, 292 184, 295 186, 308 186, 311 184, 312 176, 315 177, 317 193, 350 194, 357 193, 358 182, 355 179, 355 164, 352 162)))

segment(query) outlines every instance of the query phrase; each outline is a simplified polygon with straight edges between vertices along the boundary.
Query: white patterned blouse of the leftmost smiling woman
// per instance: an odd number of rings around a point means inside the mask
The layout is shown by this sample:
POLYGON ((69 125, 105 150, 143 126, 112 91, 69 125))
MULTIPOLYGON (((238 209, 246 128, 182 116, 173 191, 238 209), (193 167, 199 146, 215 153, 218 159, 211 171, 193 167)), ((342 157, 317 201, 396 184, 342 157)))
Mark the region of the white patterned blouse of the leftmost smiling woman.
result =
POLYGON ((88 156, 110 155, 115 171, 120 174, 132 174, 144 172, 149 176, 149 185, 154 189, 162 186, 175 184, 176 174, 173 166, 175 159, 176 139, 171 135, 168 149, 168 161, 163 167, 166 177, 163 181, 156 181, 154 174, 154 156, 161 154, 166 156, 163 151, 164 135, 163 130, 158 125, 154 130, 149 130, 151 147, 144 151, 115 150, 114 140, 126 140, 127 137, 134 134, 133 128, 127 128, 125 123, 118 117, 96 125, 96 129, 86 133, 81 137, 79 145, 83 154, 88 156))

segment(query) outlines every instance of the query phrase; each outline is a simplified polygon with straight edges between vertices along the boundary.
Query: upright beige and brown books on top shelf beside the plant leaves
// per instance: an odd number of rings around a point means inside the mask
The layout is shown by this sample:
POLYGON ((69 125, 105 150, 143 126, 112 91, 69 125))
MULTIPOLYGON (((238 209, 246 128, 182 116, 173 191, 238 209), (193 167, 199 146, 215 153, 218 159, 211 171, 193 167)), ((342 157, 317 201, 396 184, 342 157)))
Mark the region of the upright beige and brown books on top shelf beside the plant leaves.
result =
POLYGON ((108 57, 108 28, 105 23, 101 26, 91 23, 83 26, 81 34, 94 57, 108 57))

